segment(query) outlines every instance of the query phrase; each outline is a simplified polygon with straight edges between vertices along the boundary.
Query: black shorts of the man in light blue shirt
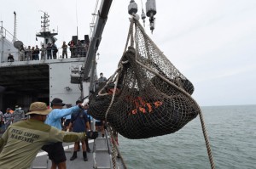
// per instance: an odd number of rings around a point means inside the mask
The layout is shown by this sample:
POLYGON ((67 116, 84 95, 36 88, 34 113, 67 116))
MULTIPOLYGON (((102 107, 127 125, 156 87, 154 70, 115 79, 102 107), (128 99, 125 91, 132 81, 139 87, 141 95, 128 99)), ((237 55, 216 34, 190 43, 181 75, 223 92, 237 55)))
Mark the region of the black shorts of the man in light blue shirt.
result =
POLYGON ((48 153, 49 160, 54 161, 55 164, 67 161, 62 142, 44 145, 42 149, 48 153))

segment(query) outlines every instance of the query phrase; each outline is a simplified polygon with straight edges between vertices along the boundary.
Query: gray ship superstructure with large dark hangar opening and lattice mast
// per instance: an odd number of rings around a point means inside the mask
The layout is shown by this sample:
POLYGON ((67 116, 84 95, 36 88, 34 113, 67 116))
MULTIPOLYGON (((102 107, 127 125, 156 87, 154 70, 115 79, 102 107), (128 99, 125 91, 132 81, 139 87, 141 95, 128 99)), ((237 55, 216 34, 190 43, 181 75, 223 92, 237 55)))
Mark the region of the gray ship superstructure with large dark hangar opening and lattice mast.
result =
MULTIPOLYGON (((44 45, 56 41, 57 32, 49 31, 49 15, 44 13, 42 30, 37 37, 44 38, 44 45)), ((0 29, 0 110, 13 109, 18 104, 27 111, 33 101, 49 104, 54 98, 61 98, 67 104, 73 104, 81 97, 78 79, 84 68, 85 57, 62 59, 20 60, 20 41, 13 42, 15 36, 0 29), (12 54, 15 61, 9 62, 12 54)), ((17 39, 16 39, 17 40, 17 39)))

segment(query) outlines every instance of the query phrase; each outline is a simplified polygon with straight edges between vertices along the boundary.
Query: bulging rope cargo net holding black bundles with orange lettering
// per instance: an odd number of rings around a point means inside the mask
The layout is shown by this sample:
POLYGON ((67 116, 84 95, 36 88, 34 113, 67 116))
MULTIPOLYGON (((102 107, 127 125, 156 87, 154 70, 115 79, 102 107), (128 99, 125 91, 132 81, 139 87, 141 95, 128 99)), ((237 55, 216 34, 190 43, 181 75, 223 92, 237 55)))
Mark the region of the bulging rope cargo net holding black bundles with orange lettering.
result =
POLYGON ((118 69, 90 96, 89 111, 125 138, 151 138, 177 132, 199 114, 193 92, 193 84, 131 19, 118 69))

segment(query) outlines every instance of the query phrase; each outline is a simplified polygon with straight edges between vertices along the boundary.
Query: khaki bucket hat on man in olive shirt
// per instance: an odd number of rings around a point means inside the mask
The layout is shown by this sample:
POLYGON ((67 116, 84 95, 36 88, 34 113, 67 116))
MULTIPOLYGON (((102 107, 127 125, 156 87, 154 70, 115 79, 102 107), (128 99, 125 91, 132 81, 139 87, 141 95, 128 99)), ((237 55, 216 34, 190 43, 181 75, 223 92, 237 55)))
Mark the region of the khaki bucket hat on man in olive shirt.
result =
POLYGON ((26 115, 37 114, 37 115, 48 115, 51 109, 47 108, 47 105, 44 102, 34 102, 30 105, 30 112, 26 115))

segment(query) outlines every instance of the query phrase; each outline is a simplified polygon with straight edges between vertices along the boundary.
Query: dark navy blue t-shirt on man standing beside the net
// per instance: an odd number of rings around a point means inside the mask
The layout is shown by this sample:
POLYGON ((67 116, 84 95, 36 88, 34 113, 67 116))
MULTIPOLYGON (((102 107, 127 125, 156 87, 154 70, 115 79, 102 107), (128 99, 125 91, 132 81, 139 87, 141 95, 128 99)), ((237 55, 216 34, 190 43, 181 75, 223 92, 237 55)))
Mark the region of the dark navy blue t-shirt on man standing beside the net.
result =
POLYGON ((86 122, 88 121, 85 110, 79 110, 71 115, 73 123, 73 132, 86 132, 86 122))

